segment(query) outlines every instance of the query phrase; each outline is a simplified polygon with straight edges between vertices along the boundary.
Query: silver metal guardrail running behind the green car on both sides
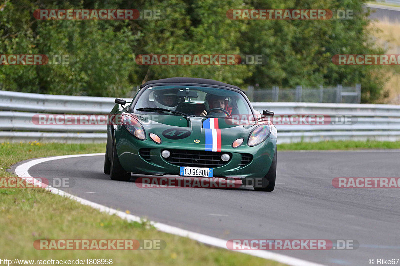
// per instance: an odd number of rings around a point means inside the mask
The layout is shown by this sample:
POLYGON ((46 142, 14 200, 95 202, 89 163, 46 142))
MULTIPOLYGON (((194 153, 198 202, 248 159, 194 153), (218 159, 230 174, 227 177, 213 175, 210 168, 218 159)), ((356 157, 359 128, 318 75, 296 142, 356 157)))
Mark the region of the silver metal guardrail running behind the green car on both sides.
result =
MULTIPOLYGON (((106 125, 37 125, 37 114, 108 114, 114 98, 0 91, 0 142, 105 142, 106 125)), ((300 102, 254 102, 276 115, 348 116, 349 124, 276 124, 278 143, 321 140, 400 140, 400 106, 300 102)))

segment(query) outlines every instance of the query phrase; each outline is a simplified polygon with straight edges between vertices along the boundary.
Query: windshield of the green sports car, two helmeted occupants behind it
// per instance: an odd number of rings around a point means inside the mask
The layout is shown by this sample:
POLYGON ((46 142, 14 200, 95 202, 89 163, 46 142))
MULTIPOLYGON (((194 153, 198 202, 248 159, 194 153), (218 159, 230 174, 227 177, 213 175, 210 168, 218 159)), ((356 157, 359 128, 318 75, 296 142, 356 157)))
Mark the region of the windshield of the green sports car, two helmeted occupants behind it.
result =
POLYGON ((252 115, 246 99, 236 91, 187 85, 147 88, 136 102, 133 113, 157 112, 162 109, 166 115, 179 115, 177 112, 187 116, 205 114, 207 117, 252 115))

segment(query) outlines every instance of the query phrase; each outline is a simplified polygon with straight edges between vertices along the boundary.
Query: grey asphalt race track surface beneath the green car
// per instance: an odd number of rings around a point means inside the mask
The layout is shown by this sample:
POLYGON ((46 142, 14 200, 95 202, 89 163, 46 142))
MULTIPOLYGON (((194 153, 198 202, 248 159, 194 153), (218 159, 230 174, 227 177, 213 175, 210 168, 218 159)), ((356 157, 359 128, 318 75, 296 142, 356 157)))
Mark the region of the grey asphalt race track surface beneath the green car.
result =
MULTIPOLYGON (((346 239, 356 250, 281 250, 326 265, 370 265, 400 257, 400 189, 334 188, 335 177, 400 177, 400 150, 278 152, 273 192, 139 188, 112 181, 103 156, 48 161, 33 177, 70 178, 73 195, 222 239, 346 239)), ((167 244, 173 245, 173 244, 167 244)))

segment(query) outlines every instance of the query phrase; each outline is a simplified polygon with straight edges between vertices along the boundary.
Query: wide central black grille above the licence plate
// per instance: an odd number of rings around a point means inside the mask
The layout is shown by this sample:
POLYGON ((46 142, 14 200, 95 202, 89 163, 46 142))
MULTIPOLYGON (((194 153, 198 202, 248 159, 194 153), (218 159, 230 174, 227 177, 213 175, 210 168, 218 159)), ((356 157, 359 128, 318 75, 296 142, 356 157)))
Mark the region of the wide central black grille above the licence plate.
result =
MULTIPOLYGON (((166 160, 177 166, 192 167, 218 167, 226 164, 222 161, 222 152, 194 151, 194 150, 169 150, 171 156, 166 160)), ((228 153, 230 158, 232 155, 228 153)), ((228 161, 229 162, 229 161, 228 161)))

